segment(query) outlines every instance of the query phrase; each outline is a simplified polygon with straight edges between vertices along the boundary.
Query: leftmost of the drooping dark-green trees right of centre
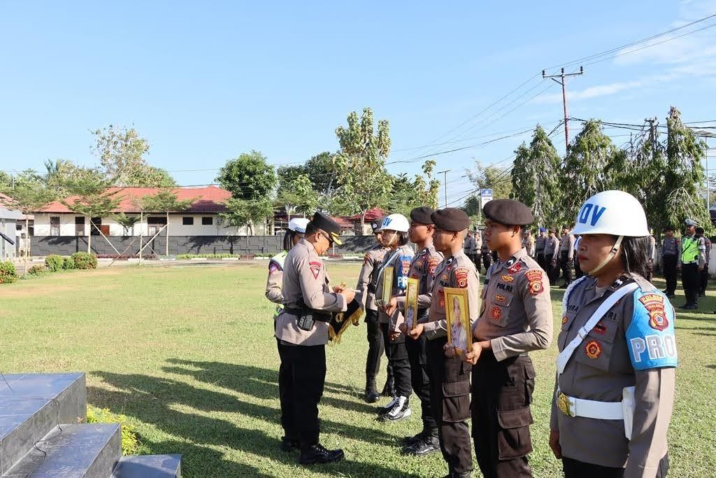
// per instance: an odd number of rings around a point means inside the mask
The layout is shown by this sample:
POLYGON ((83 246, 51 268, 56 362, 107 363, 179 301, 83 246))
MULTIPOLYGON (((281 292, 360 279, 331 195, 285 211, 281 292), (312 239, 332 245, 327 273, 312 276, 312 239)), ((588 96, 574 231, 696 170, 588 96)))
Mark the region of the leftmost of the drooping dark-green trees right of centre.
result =
POLYGON ((556 224, 562 194, 558 183, 561 158, 552 141, 538 125, 529 147, 522 143, 515 154, 512 196, 532 209, 538 226, 556 224))

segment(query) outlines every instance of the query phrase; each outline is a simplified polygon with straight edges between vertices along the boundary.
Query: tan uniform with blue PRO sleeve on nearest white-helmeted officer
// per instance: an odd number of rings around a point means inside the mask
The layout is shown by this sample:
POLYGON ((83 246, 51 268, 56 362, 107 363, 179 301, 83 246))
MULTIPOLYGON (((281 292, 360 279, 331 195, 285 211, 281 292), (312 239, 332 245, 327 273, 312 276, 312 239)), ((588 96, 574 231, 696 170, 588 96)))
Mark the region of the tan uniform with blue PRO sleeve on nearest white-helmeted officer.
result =
POLYGON ((588 331, 558 376, 550 426, 559 431, 567 459, 625 468, 624 477, 663 477, 677 365, 675 314, 667 297, 638 274, 620 277, 605 288, 584 277, 566 292, 558 346, 561 352, 610 295, 634 282, 637 290, 616 302, 588 331), (584 408, 581 401, 606 402, 616 407, 616 414, 623 412, 620 402, 629 387, 634 387, 635 406, 631 427, 614 416, 581 416, 581 410, 594 413, 590 408, 595 408, 589 402, 584 408))

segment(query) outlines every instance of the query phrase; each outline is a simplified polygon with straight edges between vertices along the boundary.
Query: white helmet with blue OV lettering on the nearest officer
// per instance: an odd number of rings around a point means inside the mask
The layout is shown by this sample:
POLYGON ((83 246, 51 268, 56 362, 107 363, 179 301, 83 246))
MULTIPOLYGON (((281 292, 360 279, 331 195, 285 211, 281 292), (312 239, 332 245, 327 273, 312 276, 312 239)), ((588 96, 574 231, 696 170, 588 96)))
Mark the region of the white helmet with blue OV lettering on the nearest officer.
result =
POLYGON ((579 209, 570 234, 648 236, 647 215, 637 198, 624 191, 603 191, 579 209))

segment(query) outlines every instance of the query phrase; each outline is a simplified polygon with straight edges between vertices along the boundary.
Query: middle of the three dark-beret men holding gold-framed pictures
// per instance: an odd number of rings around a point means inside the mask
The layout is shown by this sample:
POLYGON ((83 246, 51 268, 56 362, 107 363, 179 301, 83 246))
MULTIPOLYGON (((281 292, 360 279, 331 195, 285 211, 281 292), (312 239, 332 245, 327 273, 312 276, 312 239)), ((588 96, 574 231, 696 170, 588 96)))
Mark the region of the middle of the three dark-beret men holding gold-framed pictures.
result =
POLYGON ((417 340, 427 339, 427 363, 430 368, 430 400, 440 439, 440 451, 448 462, 448 477, 469 477, 473 469, 470 434, 470 364, 458 357, 446 357, 448 343, 445 319, 445 287, 468 290, 470 323, 478 316, 479 274, 475 264, 463 253, 463 240, 470 226, 465 212, 455 208, 435 211, 433 244, 445 257, 435 269, 432 300, 427 322, 418 324, 408 334, 417 340))

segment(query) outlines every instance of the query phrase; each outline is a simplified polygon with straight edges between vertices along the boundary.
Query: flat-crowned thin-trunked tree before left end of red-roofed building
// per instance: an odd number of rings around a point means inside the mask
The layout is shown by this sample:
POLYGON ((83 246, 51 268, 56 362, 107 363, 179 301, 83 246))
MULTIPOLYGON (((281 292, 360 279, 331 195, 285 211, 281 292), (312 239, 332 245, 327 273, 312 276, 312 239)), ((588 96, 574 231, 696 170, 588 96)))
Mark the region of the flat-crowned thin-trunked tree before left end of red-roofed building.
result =
POLYGON ((70 211, 88 217, 90 220, 89 234, 87 235, 87 252, 92 252, 92 217, 110 216, 120 204, 117 198, 118 189, 110 191, 112 181, 99 179, 95 176, 79 176, 71 178, 65 187, 72 195, 60 199, 70 211))

